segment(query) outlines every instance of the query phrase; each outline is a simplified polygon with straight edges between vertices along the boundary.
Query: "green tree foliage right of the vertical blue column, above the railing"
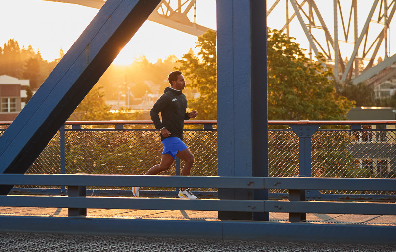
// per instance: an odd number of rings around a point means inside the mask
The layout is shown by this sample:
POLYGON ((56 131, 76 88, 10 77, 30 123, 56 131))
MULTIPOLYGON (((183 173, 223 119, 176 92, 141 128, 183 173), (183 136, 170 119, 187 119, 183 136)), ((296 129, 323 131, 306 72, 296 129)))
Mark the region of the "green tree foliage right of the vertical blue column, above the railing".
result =
POLYGON ((322 55, 310 61, 299 44, 267 30, 268 119, 344 120, 353 103, 337 95, 322 55))

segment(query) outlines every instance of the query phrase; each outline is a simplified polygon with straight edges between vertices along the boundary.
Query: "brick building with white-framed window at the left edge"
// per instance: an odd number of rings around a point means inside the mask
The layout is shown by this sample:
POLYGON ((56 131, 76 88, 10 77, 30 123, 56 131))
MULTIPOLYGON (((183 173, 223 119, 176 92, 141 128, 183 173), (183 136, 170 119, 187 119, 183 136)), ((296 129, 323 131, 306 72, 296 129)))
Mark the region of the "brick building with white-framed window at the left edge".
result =
POLYGON ((13 121, 25 106, 29 80, 19 80, 8 75, 0 76, 0 121, 13 121))

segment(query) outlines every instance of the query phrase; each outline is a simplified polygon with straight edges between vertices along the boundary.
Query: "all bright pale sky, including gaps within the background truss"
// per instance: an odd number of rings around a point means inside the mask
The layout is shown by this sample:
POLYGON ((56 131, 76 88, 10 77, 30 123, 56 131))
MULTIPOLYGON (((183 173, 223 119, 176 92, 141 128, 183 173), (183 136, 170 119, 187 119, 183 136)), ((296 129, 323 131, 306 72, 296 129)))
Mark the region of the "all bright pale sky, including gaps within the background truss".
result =
MULTIPOLYGON (((267 1, 269 8, 275 0, 267 1)), ((359 13, 359 35, 364 25, 365 18, 370 11, 370 4, 362 5, 358 1, 359 13)), ((283 2, 283 1, 282 1, 283 2)), ((333 35, 333 1, 317 1, 318 7, 325 21, 329 22, 328 29, 333 35)), ((346 19, 350 10, 351 0, 343 0, 346 4, 344 19, 346 19)), ((284 4, 283 4, 284 5, 284 4)), ((285 7, 279 4, 271 15, 268 17, 268 26, 280 29, 285 23, 285 7), (277 25, 280 27, 277 27, 277 25)), ((35 51, 39 50, 45 60, 52 61, 59 57, 59 50, 62 48, 66 52, 76 41, 78 36, 84 31, 89 22, 98 13, 98 9, 84 7, 75 4, 42 1, 42 0, 0 0, 0 46, 3 47, 9 39, 15 39, 19 42, 20 47, 32 45, 35 51)), ((292 8, 289 7, 289 15, 292 14, 292 8)), ((198 0, 197 1, 197 22, 200 25, 216 29, 216 1, 215 0, 198 0)), ((345 20, 347 22, 347 20, 345 20)), ((342 28, 339 23, 339 39, 341 40, 342 28)), ((297 38, 297 42, 302 48, 308 48, 309 44, 305 34, 298 24, 297 18, 292 21, 291 36, 297 38)), ((370 31, 381 29, 379 24, 370 24, 370 31)), ((390 34, 390 55, 395 53, 395 18, 391 26, 390 34)), ((353 30, 350 32, 353 36, 353 30)), ((375 36, 378 35, 377 33, 375 36)), ((320 38, 321 35, 315 35, 320 38)), ((374 40, 369 38, 369 40, 374 40)), ((151 62, 157 59, 164 59, 169 55, 176 55, 180 58, 187 53, 190 48, 195 47, 197 37, 166 27, 164 25, 146 21, 131 41, 120 52, 115 59, 115 64, 130 64, 135 57, 145 55, 151 62), (175 39, 168 39, 175 38, 175 39)), ((346 48, 350 52, 353 49, 352 44, 341 44, 340 47, 346 48)), ((380 52, 383 53, 381 48, 380 52)), ((343 57, 349 57, 351 53, 344 53, 343 57)))

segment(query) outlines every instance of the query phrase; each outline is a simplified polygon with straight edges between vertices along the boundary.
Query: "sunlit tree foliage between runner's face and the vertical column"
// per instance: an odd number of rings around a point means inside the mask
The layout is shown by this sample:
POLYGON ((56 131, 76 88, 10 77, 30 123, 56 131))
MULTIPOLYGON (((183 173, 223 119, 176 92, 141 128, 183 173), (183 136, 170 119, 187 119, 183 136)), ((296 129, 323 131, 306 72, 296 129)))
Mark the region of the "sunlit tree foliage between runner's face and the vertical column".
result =
POLYGON ((196 47, 200 48, 198 55, 192 51, 183 55, 180 71, 188 82, 186 89, 196 89, 200 96, 189 99, 189 108, 197 110, 198 120, 215 120, 217 118, 216 89, 216 32, 208 30, 198 37, 196 47))

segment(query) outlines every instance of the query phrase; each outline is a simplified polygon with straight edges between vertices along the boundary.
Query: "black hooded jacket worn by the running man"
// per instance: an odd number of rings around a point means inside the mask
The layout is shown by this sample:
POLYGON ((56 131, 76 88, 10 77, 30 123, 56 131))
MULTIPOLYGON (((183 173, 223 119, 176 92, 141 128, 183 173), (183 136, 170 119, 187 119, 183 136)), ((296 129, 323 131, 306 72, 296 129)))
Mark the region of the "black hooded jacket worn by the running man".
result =
MULTIPOLYGON (((165 88, 164 94, 157 100, 150 111, 151 120, 156 129, 166 128, 171 135, 183 139, 184 120, 190 119, 187 109, 187 99, 182 90, 175 90, 169 86, 165 88), (162 123, 159 119, 161 112, 162 123)), ((165 139, 161 134, 161 141, 165 139)))

